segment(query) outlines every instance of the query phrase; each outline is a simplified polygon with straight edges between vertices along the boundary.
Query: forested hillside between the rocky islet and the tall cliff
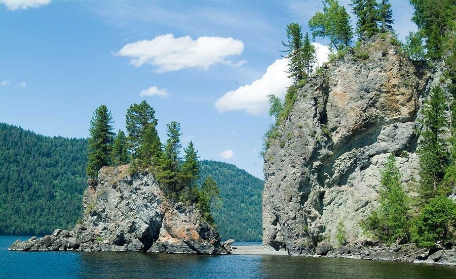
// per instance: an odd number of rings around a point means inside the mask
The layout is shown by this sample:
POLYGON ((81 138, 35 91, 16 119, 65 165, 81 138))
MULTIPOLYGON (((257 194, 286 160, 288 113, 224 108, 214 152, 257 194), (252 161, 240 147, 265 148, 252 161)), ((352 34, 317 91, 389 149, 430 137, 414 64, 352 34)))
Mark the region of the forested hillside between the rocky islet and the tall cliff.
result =
POLYGON ((211 206, 222 239, 261 241, 261 191, 264 181, 235 165, 201 161, 200 182, 211 176, 220 189, 220 206, 211 206))

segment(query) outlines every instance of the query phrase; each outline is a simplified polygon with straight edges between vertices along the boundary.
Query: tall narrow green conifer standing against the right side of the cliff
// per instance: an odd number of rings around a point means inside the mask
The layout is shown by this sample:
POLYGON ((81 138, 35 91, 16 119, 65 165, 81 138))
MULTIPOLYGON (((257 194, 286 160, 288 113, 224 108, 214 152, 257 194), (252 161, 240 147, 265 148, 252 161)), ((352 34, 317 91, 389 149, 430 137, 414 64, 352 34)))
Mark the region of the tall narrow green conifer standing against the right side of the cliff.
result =
POLYGON ((445 133, 446 99, 442 88, 432 88, 429 100, 423 108, 424 131, 419 145, 420 156, 420 194, 424 201, 435 197, 437 188, 445 174, 447 161, 446 144, 442 138, 445 133))

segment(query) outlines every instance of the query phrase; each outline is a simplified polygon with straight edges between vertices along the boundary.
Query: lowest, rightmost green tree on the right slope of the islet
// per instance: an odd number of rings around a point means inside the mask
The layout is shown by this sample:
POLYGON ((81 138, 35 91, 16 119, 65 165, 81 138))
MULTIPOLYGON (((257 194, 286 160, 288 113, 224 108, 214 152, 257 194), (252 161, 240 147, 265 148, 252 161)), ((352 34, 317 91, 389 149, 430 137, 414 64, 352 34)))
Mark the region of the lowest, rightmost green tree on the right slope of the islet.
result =
POLYGON ((217 182, 209 175, 204 179, 201 189, 198 191, 197 206, 203 212, 204 219, 210 224, 214 224, 214 218, 211 214, 211 204, 219 200, 220 190, 217 187, 217 182))

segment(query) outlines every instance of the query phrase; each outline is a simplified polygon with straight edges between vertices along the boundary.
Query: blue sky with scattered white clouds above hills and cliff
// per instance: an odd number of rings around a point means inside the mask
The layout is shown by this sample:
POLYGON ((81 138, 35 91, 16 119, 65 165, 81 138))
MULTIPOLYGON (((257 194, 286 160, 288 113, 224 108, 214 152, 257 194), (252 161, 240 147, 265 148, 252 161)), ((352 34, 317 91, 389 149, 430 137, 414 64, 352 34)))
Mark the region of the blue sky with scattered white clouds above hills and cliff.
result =
MULTIPOLYGON (((349 11, 349 1, 339 1, 349 11)), ((412 7, 392 0, 400 38, 412 7)), ((124 129, 132 103, 181 123, 184 146, 262 178, 258 156, 272 120, 265 96, 289 80, 285 28, 320 1, 0 0, 0 122, 45 135, 87 137, 105 104, 124 129)), ((354 20, 354 19, 353 19, 354 20)), ((317 40, 320 60, 325 40, 317 40)))

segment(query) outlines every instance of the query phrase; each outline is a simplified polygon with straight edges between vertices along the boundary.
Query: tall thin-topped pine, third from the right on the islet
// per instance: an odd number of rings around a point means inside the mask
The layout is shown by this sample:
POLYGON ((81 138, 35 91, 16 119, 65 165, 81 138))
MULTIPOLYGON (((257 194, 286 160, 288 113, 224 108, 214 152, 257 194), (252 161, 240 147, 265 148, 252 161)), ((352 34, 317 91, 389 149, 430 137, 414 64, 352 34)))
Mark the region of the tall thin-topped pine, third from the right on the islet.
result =
POLYGON ((176 121, 166 125, 168 140, 165 146, 165 152, 160 164, 161 172, 157 173, 157 178, 165 187, 165 192, 171 198, 179 197, 182 191, 182 184, 179 183, 179 172, 180 172, 180 144, 179 136, 180 124, 176 121))

